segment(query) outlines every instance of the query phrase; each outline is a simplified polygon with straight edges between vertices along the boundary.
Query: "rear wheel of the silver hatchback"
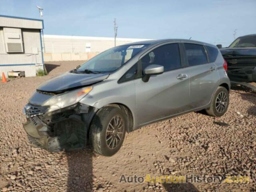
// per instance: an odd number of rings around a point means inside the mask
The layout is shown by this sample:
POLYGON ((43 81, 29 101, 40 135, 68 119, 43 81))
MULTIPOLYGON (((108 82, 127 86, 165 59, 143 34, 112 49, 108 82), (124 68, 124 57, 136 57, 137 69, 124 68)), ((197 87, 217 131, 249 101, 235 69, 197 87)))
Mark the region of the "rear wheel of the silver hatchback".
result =
POLYGON ((226 113, 229 104, 229 92, 224 87, 218 87, 212 98, 210 108, 206 109, 206 112, 210 116, 220 117, 226 113), (226 97, 225 97, 226 95, 226 97), (222 98, 223 96, 223 98, 222 98), (217 99, 218 97, 218 99, 217 99), (221 100, 220 100, 221 98, 221 100), (225 98, 225 99, 224 99, 225 98), (224 106, 224 104, 226 105, 224 106), (221 105, 221 106, 219 106, 221 105))

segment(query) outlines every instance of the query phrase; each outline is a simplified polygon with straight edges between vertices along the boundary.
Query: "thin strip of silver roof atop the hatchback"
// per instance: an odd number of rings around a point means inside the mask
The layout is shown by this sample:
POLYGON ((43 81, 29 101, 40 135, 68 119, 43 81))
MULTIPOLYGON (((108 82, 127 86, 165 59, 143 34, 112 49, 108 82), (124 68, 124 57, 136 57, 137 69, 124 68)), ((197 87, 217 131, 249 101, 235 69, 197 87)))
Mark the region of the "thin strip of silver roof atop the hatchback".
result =
POLYGON ((205 43, 205 42, 200 42, 200 41, 195 41, 195 40, 188 40, 188 39, 159 39, 159 40, 146 40, 146 41, 132 42, 132 43, 128 43, 128 44, 125 44, 125 45, 138 45, 138 44, 154 45, 154 44, 159 44, 159 43, 164 43, 164 42, 177 42, 177 41, 193 42, 193 43, 200 43, 200 44, 211 45, 211 44, 208 44, 208 43, 205 43))

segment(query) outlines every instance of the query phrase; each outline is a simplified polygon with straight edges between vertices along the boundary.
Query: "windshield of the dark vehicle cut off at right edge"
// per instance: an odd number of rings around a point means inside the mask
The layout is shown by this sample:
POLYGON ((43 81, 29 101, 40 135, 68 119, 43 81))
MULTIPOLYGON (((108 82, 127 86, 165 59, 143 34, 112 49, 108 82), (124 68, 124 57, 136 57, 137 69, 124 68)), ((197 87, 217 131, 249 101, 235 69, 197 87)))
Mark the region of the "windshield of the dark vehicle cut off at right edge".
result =
POLYGON ((229 48, 239 47, 256 47, 256 35, 239 37, 229 46, 229 48))

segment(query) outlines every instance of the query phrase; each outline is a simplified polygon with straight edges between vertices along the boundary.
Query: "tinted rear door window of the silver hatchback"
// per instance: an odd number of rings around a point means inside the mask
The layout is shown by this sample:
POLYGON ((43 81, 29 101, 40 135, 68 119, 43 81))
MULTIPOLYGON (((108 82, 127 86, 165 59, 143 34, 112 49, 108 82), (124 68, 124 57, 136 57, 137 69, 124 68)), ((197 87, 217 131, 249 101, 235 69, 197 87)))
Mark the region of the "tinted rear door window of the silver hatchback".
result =
POLYGON ((195 66, 207 63, 206 52, 204 46, 198 44, 184 43, 188 65, 195 66))

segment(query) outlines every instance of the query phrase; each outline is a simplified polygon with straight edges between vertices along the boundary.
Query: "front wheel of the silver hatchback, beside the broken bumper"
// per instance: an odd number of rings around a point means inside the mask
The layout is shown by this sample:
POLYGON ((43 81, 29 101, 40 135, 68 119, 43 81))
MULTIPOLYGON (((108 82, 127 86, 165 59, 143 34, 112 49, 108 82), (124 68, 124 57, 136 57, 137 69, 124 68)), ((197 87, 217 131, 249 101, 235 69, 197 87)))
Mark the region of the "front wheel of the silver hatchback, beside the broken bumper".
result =
POLYGON ((120 108, 100 109, 90 126, 90 144, 94 152, 103 156, 116 154, 124 142, 126 128, 127 120, 120 108))

